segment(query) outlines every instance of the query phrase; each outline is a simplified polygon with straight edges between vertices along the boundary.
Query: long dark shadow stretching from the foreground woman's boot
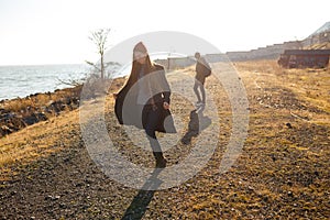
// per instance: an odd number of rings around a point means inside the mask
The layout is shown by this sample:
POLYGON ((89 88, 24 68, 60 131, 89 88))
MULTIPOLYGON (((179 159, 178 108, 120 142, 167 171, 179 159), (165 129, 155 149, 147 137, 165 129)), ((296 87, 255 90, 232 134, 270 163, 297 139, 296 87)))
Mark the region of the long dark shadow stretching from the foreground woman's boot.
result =
POLYGON ((122 220, 142 219, 155 194, 155 190, 157 190, 162 184, 162 180, 157 178, 161 172, 161 168, 155 168, 153 170, 151 177, 145 182, 142 189, 139 190, 139 194, 134 197, 130 207, 121 218, 122 220))

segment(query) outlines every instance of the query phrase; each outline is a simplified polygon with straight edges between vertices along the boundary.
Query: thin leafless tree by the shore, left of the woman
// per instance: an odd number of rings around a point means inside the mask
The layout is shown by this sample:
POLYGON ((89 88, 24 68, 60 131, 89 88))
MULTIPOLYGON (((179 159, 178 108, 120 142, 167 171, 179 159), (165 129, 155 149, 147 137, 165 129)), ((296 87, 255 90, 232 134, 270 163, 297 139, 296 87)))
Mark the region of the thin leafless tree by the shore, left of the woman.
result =
POLYGON ((88 37, 97 46, 98 54, 100 55, 100 64, 96 64, 88 61, 86 61, 86 63, 96 68, 99 73, 101 73, 101 79, 105 78, 105 72, 107 68, 107 64, 105 64, 105 52, 107 50, 107 40, 109 32, 110 29, 99 29, 97 31, 91 32, 91 35, 88 37))

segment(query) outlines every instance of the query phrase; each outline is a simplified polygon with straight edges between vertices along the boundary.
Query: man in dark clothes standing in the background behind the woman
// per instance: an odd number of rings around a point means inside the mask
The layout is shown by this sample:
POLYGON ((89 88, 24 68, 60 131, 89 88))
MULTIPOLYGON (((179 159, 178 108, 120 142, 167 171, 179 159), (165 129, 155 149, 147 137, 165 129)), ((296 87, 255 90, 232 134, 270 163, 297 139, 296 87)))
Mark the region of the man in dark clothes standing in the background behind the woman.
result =
POLYGON ((196 76, 194 91, 197 96, 196 107, 205 107, 206 103, 206 94, 205 94, 205 79, 211 74, 210 65, 200 56, 198 52, 195 53, 196 63, 196 76), (199 91, 200 90, 200 91, 199 91))

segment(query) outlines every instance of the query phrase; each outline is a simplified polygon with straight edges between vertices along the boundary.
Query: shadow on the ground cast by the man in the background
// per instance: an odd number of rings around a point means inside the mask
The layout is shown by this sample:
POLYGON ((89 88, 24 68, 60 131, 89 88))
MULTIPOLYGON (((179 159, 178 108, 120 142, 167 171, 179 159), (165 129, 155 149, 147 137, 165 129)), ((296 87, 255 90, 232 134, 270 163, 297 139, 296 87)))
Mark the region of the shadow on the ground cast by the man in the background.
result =
POLYGON ((190 144, 191 139, 197 136, 202 130, 211 124, 211 119, 202 114, 204 109, 194 109, 190 111, 190 120, 188 123, 188 131, 180 140, 183 144, 190 144))

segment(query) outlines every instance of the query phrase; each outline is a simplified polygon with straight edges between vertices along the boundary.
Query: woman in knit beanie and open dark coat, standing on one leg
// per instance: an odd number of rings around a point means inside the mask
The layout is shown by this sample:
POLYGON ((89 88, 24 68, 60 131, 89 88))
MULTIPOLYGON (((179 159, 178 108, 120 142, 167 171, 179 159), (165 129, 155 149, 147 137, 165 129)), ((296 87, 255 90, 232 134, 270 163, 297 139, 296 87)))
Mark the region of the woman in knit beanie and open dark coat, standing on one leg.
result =
POLYGON ((156 167, 160 168, 165 167, 167 161, 155 132, 176 132, 169 112, 169 96, 164 67, 152 63, 146 47, 142 42, 138 43, 133 50, 131 75, 123 88, 114 95, 114 111, 119 123, 144 129, 156 167))

